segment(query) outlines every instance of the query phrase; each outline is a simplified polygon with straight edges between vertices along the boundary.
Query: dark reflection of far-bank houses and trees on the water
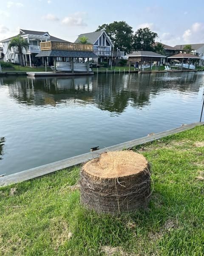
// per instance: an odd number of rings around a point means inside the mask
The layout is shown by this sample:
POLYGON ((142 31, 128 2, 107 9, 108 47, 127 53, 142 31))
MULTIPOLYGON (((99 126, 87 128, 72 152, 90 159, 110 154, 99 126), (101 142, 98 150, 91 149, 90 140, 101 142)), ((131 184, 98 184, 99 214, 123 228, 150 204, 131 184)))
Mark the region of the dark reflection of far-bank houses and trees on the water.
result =
MULTIPOLYGON (((143 108, 151 103, 161 90, 198 92, 195 73, 157 73, 68 78, 25 78, 14 81, 2 78, 8 84, 9 95, 18 103, 29 106, 87 105, 122 113, 127 106, 143 108), (4 80, 5 79, 5 80, 4 80)), ((3 83, 2 82, 2 83, 3 83)))

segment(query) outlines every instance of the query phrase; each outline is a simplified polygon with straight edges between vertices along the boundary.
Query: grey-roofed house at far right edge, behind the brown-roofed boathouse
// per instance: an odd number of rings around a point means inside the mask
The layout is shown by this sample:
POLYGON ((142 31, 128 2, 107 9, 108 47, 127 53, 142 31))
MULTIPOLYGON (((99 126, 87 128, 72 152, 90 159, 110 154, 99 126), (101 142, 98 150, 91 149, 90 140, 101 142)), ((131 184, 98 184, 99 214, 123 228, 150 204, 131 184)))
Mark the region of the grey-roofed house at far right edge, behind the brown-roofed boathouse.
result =
MULTIPOLYGON (((174 48, 178 49, 180 52, 190 52, 187 50, 184 50, 184 47, 187 46, 189 44, 177 44, 174 48)), ((199 65, 204 65, 204 44, 190 44, 193 51, 191 51, 191 53, 193 55, 196 55, 198 57, 200 57, 200 61, 199 61, 199 65)))

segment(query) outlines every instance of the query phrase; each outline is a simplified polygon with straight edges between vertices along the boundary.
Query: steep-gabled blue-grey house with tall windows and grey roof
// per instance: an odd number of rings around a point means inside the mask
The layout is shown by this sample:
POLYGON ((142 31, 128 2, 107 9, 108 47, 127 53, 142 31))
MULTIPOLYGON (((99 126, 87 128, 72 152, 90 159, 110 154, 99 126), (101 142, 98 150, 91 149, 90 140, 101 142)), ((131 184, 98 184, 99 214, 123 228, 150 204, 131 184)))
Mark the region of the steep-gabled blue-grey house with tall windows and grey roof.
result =
POLYGON ((80 43, 82 37, 88 38, 88 43, 94 45, 94 53, 98 56, 98 58, 94 58, 96 63, 105 61, 111 64, 112 56, 114 61, 125 55, 125 52, 120 52, 119 49, 114 51, 113 43, 104 30, 81 34, 75 43, 80 43))

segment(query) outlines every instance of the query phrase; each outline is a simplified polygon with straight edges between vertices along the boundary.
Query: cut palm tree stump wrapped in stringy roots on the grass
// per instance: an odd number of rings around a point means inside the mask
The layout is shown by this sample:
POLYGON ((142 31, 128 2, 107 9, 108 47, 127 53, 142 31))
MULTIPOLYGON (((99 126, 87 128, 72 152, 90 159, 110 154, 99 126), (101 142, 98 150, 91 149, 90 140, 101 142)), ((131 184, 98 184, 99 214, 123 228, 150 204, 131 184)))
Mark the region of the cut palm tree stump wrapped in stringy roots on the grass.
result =
POLYGON ((133 151, 104 153, 81 170, 81 204, 98 213, 119 214, 146 208, 150 165, 133 151))

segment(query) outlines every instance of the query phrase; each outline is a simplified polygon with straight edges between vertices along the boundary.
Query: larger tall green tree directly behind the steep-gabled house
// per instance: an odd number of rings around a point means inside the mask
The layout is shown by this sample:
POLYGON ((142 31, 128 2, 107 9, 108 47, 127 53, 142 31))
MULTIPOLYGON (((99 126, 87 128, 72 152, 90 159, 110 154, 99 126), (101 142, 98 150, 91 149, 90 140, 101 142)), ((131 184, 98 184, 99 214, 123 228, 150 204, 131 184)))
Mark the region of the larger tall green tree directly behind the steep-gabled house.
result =
POLYGON ((114 21, 103 24, 96 31, 105 30, 111 41, 114 41, 114 49, 120 49, 127 53, 132 51, 133 28, 125 21, 114 21))

